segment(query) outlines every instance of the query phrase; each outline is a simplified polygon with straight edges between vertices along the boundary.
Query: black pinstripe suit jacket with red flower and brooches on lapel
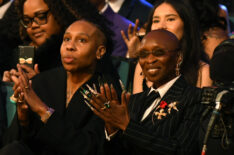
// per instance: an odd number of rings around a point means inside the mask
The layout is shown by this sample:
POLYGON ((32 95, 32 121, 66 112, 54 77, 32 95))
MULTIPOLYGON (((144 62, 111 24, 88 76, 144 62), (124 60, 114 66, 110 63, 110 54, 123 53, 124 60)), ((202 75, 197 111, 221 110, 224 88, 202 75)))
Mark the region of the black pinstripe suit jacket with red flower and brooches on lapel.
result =
MULTIPOLYGON (((199 103, 201 90, 189 86, 180 77, 161 100, 168 104, 177 101, 179 111, 172 110, 161 120, 151 113, 141 122, 142 114, 139 116, 139 111, 148 92, 149 89, 131 97, 127 129, 118 133, 111 142, 106 142, 106 146, 115 151, 121 150, 122 154, 132 155, 197 155, 199 118, 203 109, 199 103)), ((107 154, 111 152, 109 149, 106 151, 107 154)))

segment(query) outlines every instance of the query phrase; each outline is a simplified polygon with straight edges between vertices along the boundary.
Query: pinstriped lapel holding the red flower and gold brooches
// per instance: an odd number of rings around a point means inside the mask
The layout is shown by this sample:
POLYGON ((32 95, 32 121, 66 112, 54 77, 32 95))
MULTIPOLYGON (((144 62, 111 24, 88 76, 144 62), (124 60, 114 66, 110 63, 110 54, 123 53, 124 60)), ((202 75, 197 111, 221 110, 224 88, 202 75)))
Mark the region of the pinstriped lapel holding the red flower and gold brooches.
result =
MULTIPOLYGON (((180 111, 181 107, 183 105, 183 103, 180 103, 181 98, 183 97, 183 91, 185 89, 186 86, 186 82, 184 80, 184 78, 181 76, 173 85, 172 87, 166 92, 166 94, 163 96, 163 98, 159 101, 158 105, 160 105, 160 103, 162 101, 165 101, 168 105, 172 102, 178 102, 178 104, 176 105, 177 109, 180 111)), ((157 106, 158 106, 157 105, 157 106)), ((154 110, 151 111, 151 113, 141 122, 142 124, 160 124, 162 123, 164 120, 173 117, 173 115, 175 115, 177 112, 174 109, 171 110, 171 113, 168 113, 168 107, 166 107, 164 109, 166 116, 162 116, 162 119, 157 119, 157 116, 155 116, 154 114, 154 110)), ((158 109, 159 111, 159 109, 158 109)))

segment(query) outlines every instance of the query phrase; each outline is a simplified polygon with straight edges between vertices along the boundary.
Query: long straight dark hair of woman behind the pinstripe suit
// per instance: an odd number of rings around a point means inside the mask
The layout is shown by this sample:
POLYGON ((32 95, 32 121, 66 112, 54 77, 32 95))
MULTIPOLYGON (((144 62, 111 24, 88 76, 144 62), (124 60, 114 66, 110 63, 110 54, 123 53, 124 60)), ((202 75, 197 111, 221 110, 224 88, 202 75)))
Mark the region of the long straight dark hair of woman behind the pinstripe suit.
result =
POLYGON ((162 3, 170 4, 184 23, 183 37, 180 40, 183 54, 183 62, 180 66, 180 72, 184 75, 186 81, 196 86, 200 60, 206 60, 205 53, 202 50, 199 36, 199 27, 194 12, 184 0, 157 0, 148 19, 146 31, 151 31, 152 19, 155 9, 162 3), (204 58, 203 58, 204 57, 204 58))

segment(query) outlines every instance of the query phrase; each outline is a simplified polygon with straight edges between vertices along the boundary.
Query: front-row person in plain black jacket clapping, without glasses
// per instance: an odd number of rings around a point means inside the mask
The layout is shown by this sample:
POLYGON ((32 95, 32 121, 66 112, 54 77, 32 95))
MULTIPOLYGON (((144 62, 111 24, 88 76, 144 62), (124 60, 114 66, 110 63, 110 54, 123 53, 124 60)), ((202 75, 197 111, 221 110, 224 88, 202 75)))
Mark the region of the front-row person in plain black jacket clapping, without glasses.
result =
MULTIPOLYGON (((104 123, 85 100, 92 87, 114 83, 120 90, 109 56, 108 29, 97 13, 81 19, 66 30, 61 45, 63 67, 40 73, 29 81, 18 65, 19 86, 15 88, 20 142, 7 145, 0 154, 95 155, 101 152, 104 123), (107 48, 108 47, 108 48, 107 48), (100 82, 103 81, 103 82, 100 82), (11 152, 13 151, 13 152, 11 152)), ((17 123, 18 122, 18 123, 17 123)))

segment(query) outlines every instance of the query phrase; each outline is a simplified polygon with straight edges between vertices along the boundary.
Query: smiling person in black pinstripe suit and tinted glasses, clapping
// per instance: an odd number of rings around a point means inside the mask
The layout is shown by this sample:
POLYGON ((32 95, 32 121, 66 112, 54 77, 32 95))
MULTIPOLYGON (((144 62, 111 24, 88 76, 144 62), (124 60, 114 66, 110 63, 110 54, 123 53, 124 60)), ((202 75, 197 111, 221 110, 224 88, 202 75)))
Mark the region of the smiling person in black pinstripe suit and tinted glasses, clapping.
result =
POLYGON ((104 84, 101 93, 92 98, 94 113, 106 124, 106 154, 199 153, 201 89, 187 84, 179 74, 182 60, 179 47, 171 32, 162 29, 149 32, 141 42, 138 57, 153 87, 134 95, 123 92, 119 102, 113 87, 104 84), (147 106, 152 92, 158 96, 147 106))

